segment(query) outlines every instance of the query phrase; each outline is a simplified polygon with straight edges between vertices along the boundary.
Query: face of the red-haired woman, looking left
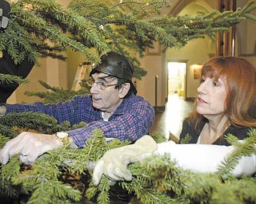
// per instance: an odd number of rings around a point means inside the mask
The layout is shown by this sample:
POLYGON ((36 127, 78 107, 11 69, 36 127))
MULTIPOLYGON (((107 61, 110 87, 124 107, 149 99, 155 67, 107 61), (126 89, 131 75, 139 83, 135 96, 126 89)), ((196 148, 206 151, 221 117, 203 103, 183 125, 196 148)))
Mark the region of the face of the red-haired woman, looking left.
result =
POLYGON ((213 116, 222 116, 225 100, 225 81, 222 78, 218 78, 216 81, 214 78, 202 77, 198 87, 197 112, 207 119, 213 116))

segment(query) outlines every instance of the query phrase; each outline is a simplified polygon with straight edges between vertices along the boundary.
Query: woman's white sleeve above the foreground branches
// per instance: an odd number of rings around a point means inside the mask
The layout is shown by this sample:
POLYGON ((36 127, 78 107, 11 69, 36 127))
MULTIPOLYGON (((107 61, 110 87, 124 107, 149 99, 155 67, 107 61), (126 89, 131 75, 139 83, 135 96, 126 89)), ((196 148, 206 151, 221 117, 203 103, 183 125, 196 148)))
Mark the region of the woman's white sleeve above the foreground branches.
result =
MULTIPOLYGON (((172 141, 158 143, 155 154, 170 154, 179 167, 200 173, 214 173, 223 159, 234 150, 232 146, 211 145, 211 144, 176 144, 172 141)), ((252 175, 256 172, 256 155, 242 156, 238 165, 232 171, 236 177, 252 175)))

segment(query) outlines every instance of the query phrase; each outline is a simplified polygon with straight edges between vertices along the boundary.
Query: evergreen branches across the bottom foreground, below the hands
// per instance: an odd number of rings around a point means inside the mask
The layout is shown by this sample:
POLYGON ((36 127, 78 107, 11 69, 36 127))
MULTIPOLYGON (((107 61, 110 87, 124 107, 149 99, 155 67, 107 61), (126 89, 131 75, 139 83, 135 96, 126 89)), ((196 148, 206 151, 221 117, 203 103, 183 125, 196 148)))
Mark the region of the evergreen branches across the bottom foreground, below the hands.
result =
MULTIPOLYGON (((86 147, 70 149, 68 141, 64 147, 49 151, 36 160, 33 167, 23 167, 18 156, 1 167, 0 190, 4 194, 27 194, 27 203, 58 203, 97 199, 98 203, 110 203, 111 182, 103 175, 99 186, 93 186, 91 169, 104 152, 121 147, 129 142, 113 139, 106 143, 101 130, 94 130, 86 147), (15 171, 14 171, 15 170, 15 171), (22 193, 21 193, 22 192, 22 193)), ((157 135, 155 135, 157 137, 157 135)), ((231 136, 233 137, 233 136, 231 136)), ((161 138, 161 135, 160 135, 161 138)), ((230 136, 228 137, 230 138, 230 136)), ((2 138, 0 138, 1 140, 2 138)), ((256 131, 250 131, 245 143, 255 143, 256 131)), ((2 143, 0 143, 2 145, 2 143)), ((255 149, 238 147, 239 155, 255 154, 255 149)), ((230 155, 228 159, 237 161, 230 155)), ((234 163, 223 161, 223 173, 195 174, 177 167, 170 155, 152 155, 141 163, 130 164, 134 175, 131 182, 118 182, 143 203, 254 203, 255 177, 241 179, 224 176, 234 163), (230 195, 226 197, 224 195, 230 195)))

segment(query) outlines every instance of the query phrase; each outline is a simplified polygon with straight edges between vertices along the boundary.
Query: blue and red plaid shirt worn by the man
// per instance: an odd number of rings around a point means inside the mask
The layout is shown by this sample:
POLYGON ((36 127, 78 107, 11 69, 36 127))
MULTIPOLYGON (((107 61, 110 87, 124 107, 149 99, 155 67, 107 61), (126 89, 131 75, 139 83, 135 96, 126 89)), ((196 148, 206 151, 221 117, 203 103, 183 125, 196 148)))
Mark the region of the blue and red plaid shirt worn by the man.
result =
POLYGON ((106 138, 136 141, 150 132, 154 121, 154 108, 141 96, 130 96, 114 111, 108 121, 102 119, 102 112, 92 105, 91 96, 75 96, 72 100, 58 104, 6 104, 6 113, 10 112, 43 112, 54 116, 58 123, 65 120, 71 125, 82 121, 82 128, 67 131, 78 147, 85 145, 95 128, 101 128, 106 138))

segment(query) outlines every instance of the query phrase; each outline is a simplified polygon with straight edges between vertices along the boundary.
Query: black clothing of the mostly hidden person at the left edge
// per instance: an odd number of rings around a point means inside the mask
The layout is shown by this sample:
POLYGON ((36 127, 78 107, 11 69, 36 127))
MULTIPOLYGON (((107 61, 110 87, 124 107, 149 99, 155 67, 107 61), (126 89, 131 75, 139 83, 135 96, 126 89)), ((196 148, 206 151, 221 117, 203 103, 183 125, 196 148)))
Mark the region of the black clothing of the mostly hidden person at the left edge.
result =
MULTIPOLYGON (((6 51, 2 51, 2 58, 0 59, 0 73, 10 74, 23 79, 27 77, 33 68, 34 63, 25 58, 20 64, 15 65, 14 61, 6 51)), ((5 82, 0 80, 0 103, 6 103, 10 95, 18 88, 15 82, 5 82)))

